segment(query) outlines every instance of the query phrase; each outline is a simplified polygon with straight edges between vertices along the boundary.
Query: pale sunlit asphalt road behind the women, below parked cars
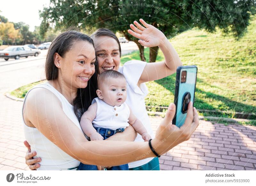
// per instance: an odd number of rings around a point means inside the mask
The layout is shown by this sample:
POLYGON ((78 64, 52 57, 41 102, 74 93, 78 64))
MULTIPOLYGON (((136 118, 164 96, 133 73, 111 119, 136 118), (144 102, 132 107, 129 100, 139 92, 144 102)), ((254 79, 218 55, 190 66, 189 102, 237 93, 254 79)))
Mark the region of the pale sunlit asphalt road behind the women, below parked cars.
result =
MULTIPOLYGON (((138 50, 133 42, 121 43, 122 54, 138 50)), ((44 64, 47 50, 41 50, 38 57, 30 56, 18 60, 0 59, 0 93, 12 91, 21 86, 44 80, 44 64)))

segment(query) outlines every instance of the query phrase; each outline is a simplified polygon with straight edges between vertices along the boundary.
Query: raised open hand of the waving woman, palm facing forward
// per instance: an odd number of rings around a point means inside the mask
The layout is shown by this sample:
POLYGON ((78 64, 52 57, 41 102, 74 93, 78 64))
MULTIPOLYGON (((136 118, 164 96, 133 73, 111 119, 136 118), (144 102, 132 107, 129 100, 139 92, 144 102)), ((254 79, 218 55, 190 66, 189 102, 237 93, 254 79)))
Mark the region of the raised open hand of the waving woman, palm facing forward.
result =
POLYGON ((134 21, 134 25, 131 24, 130 27, 132 30, 128 30, 128 33, 131 34, 134 37, 139 38, 138 41, 142 46, 146 47, 155 47, 159 46, 162 43, 164 43, 164 40, 166 39, 163 32, 158 30, 156 27, 146 23, 143 19, 140 19, 140 22, 143 24, 141 26, 137 21, 134 21))

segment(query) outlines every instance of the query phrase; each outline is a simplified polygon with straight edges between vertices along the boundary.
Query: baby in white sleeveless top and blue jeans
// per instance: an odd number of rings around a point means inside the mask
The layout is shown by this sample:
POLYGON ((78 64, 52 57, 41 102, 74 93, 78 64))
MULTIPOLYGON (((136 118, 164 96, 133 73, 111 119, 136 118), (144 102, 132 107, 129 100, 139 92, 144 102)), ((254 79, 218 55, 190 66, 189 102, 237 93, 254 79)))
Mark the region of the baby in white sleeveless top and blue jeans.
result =
MULTIPOLYGON (((123 132, 130 124, 143 140, 148 141, 151 136, 125 103, 127 94, 124 75, 114 70, 105 71, 98 78, 98 88, 98 97, 93 99, 92 105, 81 117, 80 125, 84 134, 91 141, 105 140, 117 132, 123 132)), ((82 169, 92 170, 90 166, 93 165, 83 164, 82 169)), ((114 166, 110 170, 128 170, 128 164, 114 166)))

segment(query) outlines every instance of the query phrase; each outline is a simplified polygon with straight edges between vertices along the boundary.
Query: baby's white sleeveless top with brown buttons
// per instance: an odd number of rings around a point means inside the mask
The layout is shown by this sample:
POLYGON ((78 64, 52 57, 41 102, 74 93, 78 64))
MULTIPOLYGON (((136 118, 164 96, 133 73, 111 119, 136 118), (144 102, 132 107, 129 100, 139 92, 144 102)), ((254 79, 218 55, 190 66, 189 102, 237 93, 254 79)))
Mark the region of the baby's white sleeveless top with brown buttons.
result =
POLYGON ((116 130, 129 126, 130 109, 126 103, 120 106, 111 106, 98 97, 92 100, 92 104, 95 102, 97 102, 97 112, 96 118, 92 121, 93 127, 116 130))

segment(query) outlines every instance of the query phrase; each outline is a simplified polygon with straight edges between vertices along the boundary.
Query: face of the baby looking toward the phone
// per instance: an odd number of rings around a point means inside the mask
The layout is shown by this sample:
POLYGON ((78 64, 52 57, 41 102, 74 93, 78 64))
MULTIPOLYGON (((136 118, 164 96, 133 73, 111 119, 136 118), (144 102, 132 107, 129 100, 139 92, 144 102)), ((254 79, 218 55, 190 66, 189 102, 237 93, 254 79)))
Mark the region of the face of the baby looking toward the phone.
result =
POLYGON ((122 105, 127 97, 126 80, 124 78, 109 78, 101 85, 102 100, 111 106, 122 105))

